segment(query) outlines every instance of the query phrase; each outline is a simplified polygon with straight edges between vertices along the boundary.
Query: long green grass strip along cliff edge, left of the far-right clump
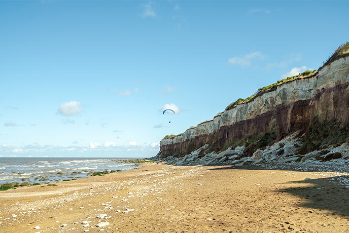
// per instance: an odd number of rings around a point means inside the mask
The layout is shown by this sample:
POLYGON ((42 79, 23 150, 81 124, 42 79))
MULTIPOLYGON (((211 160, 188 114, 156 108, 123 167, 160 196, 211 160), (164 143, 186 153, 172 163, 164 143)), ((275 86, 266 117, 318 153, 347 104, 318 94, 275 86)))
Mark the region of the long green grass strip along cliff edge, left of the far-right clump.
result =
POLYGON ((305 79, 307 77, 310 77, 310 76, 314 75, 316 72, 317 72, 317 70, 313 70, 313 71, 306 70, 303 73, 299 73, 298 75, 290 76, 290 77, 287 77, 286 79, 279 80, 276 83, 271 84, 269 86, 262 87, 262 88, 258 89, 258 92, 256 94, 254 94, 254 95, 252 95, 250 97, 247 97, 246 99, 241 99, 241 98, 237 99, 235 102, 229 104, 225 108, 225 110, 230 110, 230 109, 236 107, 239 104, 248 103, 248 102, 252 101, 255 97, 262 95, 263 93, 276 90, 277 86, 280 86, 282 84, 285 84, 285 83, 288 83, 288 82, 291 82, 291 81, 294 81, 294 80, 305 79))

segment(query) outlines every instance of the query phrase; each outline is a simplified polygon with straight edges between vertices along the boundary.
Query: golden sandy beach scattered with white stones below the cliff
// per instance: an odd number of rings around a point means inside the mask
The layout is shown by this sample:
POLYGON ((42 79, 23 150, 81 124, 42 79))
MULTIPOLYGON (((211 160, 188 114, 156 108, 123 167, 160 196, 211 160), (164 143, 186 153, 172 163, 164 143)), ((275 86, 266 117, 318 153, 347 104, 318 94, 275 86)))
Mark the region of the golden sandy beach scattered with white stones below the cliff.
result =
POLYGON ((146 164, 1 191, 0 231, 349 232, 340 175, 146 164))

